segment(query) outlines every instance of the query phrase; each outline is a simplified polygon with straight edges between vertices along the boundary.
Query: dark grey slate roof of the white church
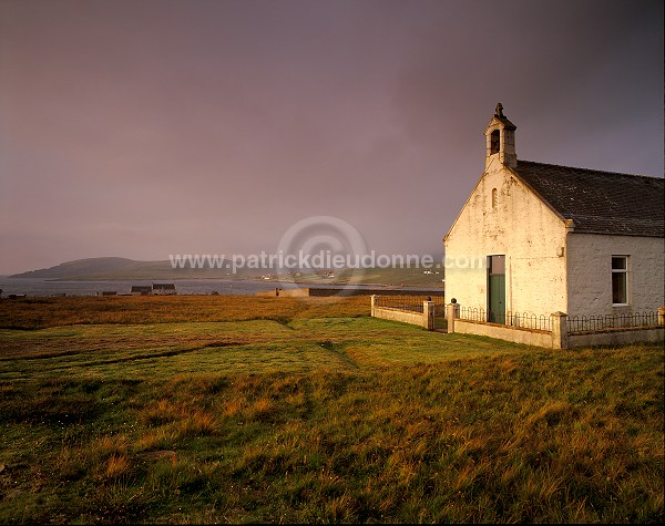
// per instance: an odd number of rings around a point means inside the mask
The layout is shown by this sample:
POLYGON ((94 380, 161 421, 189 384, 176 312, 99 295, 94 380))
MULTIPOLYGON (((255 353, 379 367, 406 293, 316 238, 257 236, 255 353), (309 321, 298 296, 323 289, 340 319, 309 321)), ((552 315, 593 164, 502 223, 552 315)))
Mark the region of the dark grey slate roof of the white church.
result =
POLYGON ((514 172, 575 231, 665 237, 665 179, 518 161, 514 172))

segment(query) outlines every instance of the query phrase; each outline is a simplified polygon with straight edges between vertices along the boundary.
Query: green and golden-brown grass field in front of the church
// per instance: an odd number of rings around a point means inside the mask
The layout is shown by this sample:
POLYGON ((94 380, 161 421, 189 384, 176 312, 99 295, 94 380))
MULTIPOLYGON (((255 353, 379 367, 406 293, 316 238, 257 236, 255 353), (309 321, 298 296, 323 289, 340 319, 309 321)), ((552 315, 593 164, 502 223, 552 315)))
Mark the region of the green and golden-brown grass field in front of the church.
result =
POLYGON ((658 522, 661 345, 356 298, 0 301, 0 523, 658 522))

